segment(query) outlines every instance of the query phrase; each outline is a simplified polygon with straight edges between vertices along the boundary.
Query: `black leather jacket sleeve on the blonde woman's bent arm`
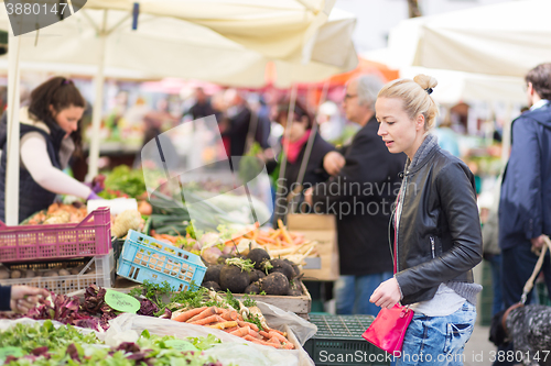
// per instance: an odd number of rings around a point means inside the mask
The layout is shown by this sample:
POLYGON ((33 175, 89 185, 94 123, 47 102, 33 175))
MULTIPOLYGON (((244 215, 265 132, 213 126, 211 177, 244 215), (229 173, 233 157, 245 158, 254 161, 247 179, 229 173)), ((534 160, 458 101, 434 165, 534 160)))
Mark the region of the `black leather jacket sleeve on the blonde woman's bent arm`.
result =
POLYGON ((435 189, 453 247, 434 259, 396 274, 404 297, 452 280, 480 263, 482 231, 473 185, 460 164, 450 164, 439 173, 435 189))

